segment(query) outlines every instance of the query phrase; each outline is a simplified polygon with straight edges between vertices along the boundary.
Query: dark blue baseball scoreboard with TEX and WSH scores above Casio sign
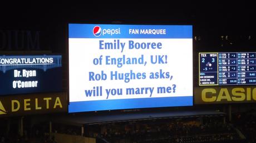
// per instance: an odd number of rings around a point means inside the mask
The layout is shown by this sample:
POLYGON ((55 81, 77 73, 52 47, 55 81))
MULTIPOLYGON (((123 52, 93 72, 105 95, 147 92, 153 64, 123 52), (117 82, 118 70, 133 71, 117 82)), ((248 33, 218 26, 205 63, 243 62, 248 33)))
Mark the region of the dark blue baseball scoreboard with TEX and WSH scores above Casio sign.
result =
POLYGON ((256 84, 256 53, 199 53, 199 85, 256 84))

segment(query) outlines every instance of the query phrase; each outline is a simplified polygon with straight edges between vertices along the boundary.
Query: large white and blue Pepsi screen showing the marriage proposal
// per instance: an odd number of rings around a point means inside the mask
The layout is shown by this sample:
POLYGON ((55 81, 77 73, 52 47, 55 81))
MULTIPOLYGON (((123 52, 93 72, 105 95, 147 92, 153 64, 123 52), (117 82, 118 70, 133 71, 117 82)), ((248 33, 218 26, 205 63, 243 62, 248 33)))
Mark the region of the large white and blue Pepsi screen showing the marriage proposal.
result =
POLYGON ((68 24, 69 113, 193 105, 191 25, 68 24))

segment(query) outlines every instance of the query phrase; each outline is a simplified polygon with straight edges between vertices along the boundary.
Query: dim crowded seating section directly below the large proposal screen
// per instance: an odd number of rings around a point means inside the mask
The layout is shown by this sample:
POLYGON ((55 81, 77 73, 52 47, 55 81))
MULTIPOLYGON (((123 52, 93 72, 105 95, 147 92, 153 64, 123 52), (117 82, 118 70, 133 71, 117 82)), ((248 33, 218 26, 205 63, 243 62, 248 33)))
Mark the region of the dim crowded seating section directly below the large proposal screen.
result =
POLYGON ((196 119, 117 122, 101 125, 101 133, 94 137, 97 137, 99 142, 119 143, 245 141, 234 127, 215 119, 204 120, 204 124, 196 119))

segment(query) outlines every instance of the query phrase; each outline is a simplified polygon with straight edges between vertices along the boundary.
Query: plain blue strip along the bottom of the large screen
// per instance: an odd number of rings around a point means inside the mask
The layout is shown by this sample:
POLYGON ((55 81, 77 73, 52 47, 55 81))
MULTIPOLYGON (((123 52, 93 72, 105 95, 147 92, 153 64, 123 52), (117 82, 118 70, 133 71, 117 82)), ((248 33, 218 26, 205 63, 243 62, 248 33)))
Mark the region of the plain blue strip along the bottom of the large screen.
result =
POLYGON ((116 109, 155 108, 169 106, 191 106, 193 96, 180 96, 171 98, 140 98, 119 100, 96 100, 71 102, 68 106, 69 113, 82 111, 100 111, 116 109))

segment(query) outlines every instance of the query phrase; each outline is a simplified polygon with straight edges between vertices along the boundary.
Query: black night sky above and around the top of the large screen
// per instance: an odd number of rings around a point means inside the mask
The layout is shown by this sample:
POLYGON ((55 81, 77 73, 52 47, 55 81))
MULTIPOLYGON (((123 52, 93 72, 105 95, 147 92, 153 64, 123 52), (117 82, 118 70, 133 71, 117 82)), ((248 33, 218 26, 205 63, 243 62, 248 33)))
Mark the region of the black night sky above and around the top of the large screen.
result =
POLYGON ((40 30, 51 33, 55 42, 65 39, 60 35, 65 34, 68 22, 192 24, 193 35, 209 41, 220 35, 255 35, 255 9, 252 2, 245 1, 120 1, 118 5, 100 1, 8 1, 0 4, 0 30, 40 30))

